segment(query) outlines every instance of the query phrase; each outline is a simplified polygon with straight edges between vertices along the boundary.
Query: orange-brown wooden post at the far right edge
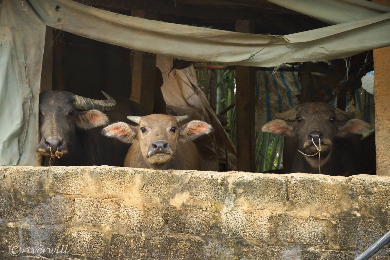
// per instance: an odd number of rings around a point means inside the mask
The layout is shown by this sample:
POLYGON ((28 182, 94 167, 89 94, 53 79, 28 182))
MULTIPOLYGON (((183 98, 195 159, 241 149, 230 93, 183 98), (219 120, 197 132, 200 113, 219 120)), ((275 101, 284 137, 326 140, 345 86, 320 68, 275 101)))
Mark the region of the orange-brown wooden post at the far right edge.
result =
MULTIPOLYGON (((373 0, 390 5, 390 0, 373 0)), ((374 50, 376 174, 390 176, 390 47, 374 50)))

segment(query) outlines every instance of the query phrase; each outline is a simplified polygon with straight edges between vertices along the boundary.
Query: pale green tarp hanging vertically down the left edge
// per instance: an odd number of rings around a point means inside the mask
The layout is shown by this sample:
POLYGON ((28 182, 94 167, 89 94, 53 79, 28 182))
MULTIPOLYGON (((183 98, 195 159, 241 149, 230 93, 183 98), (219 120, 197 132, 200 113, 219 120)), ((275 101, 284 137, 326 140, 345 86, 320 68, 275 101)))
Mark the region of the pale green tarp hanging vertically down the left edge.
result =
POLYGON ((45 25, 25 1, 0 1, 0 165, 33 165, 45 25))

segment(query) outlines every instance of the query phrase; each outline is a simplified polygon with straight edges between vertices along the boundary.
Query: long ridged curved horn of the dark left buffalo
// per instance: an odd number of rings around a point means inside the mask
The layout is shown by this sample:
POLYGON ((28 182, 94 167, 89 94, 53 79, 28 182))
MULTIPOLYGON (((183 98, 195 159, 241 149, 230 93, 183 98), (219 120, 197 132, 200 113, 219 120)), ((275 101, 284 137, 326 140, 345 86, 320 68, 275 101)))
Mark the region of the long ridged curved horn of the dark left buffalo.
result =
POLYGON ((117 102, 112 96, 102 91, 103 95, 106 96, 107 100, 90 99, 87 97, 74 95, 74 106, 80 110, 92 110, 97 109, 100 111, 111 111, 115 108, 117 102))

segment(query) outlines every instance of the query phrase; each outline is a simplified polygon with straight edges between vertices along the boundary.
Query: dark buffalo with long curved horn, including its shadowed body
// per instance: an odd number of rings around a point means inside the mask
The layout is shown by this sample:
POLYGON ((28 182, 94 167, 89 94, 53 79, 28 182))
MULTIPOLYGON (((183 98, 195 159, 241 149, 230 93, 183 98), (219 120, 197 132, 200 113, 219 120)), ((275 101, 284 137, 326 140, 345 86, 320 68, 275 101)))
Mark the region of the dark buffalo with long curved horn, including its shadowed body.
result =
POLYGON ((103 136, 101 129, 110 121, 124 120, 126 115, 146 113, 124 97, 116 102, 103 94, 107 100, 88 99, 66 91, 39 95, 41 141, 37 157, 43 156, 41 165, 48 166, 52 161, 61 166, 123 165, 129 145, 103 136))

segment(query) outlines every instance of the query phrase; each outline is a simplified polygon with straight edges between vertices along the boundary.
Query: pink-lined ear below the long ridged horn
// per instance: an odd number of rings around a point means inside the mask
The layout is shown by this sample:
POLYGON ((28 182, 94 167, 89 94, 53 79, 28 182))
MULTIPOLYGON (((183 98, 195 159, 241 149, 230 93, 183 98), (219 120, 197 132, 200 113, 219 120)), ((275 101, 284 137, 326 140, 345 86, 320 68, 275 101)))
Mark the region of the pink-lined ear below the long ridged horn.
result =
POLYGON ((76 126, 84 130, 105 126, 108 122, 106 114, 99 110, 93 109, 77 112, 76 126))

